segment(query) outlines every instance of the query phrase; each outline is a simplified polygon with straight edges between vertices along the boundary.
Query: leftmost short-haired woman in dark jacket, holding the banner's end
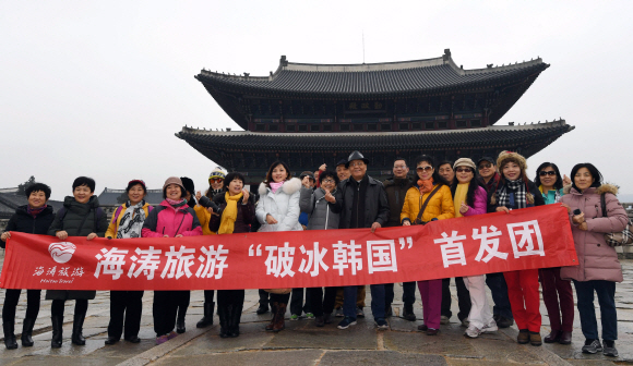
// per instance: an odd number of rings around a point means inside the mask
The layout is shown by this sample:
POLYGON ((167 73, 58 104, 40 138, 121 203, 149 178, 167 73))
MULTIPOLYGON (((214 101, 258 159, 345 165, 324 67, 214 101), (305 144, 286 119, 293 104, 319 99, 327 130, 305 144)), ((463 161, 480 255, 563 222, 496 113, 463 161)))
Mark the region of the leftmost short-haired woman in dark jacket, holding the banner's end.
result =
MULTIPOLYGON (((28 203, 15 209, 9 219, 7 229, 0 236, 0 247, 11 239, 11 232, 46 235, 55 219, 52 207, 46 203, 50 198, 50 187, 44 183, 34 183, 24 190, 28 203)), ((20 289, 7 289, 4 305, 2 306, 2 329, 7 350, 17 349, 15 340, 15 308, 20 300, 20 289)), ((22 321, 22 346, 33 346, 33 326, 39 314, 39 298, 41 290, 26 290, 26 315, 22 321)))

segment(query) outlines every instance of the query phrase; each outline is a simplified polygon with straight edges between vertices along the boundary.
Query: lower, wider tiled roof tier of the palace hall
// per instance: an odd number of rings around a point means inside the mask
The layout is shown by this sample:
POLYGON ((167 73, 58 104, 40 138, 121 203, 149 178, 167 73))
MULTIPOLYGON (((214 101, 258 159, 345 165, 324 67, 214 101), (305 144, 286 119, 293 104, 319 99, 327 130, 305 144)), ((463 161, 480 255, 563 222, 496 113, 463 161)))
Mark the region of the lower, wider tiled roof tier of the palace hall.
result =
MULTIPOLYGON (((499 145, 551 143, 574 129, 564 120, 482 129, 362 132, 362 133, 258 133, 202 131, 183 127, 176 136, 194 148, 227 151, 350 151, 425 148, 478 148, 499 145)), ((546 144, 547 145, 547 144, 546 144)), ((204 152, 203 152, 204 154, 204 152)), ((213 159, 213 158, 212 158, 213 159)))

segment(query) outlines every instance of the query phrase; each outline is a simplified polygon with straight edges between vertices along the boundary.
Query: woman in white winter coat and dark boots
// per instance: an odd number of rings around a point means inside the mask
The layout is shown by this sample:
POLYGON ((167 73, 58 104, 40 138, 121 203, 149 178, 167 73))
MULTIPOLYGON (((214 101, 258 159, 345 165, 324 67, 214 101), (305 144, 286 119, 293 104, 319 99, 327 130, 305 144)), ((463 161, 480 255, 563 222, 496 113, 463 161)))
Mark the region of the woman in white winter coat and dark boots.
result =
MULTIPOLYGON (((292 178, 288 166, 282 161, 273 162, 259 190, 255 216, 262 224, 260 232, 303 230, 299 223, 300 190, 301 181, 292 178)), ((285 328, 284 316, 289 298, 289 293, 271 293, 273 319, 266 330, 277 332, 285 328)))

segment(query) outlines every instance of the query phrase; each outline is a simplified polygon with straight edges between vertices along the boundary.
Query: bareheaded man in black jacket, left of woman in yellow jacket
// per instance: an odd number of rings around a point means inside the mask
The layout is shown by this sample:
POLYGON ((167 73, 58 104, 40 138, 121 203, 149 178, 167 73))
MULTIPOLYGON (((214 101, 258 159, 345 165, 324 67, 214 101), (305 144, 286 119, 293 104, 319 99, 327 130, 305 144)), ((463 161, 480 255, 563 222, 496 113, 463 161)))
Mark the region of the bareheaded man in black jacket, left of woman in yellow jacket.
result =
MULTIPOLYGON (((393 162, 393 178, 387 179, 383 182, 384 191, 386 192, 386 199, 389 202, 389 221, 385 227, 399 227, 401 223, 401 212, 403 210, 403 205, 405 203, 405 196, 407 191, 414 186, 411 180, 409 180, 408 174, 409 168, 407 167, 407 161, 404 158, 397 157, 393 162)), ((392 315, 391 304, 393 302, 393 283, 385 283, 385 306, 386 316, 392 315)), ((416 302, 416 282, 404 282, 403 283, 403 318, 409 321, 416 321, 416 315, 414 314, 414 303, 416 302)))

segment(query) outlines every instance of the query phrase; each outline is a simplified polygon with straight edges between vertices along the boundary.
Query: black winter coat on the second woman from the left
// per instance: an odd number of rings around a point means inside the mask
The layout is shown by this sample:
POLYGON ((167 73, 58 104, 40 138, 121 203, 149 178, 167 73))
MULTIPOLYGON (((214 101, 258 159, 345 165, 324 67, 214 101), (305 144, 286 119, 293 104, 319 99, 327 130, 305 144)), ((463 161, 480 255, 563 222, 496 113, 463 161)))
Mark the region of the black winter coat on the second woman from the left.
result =
MULTIPOLYGON (((101 216, 97 220, 97 209, 99 208, 97 196, 92 196, 87 204, 80 204, 74 197, 68 196, 63 200, 63 207, 65 213, 63 217, 57 215, 48 229, 49 235, 55 236, 58 231, 64 230, 69 236, 87 236, 94 232, 99 237, 104 237, 106 230, 108 230, 108 218, 101 211, 101 216)), ((96 291, 47 290, 46 300, 93 300, 96 294, 96 291)))

